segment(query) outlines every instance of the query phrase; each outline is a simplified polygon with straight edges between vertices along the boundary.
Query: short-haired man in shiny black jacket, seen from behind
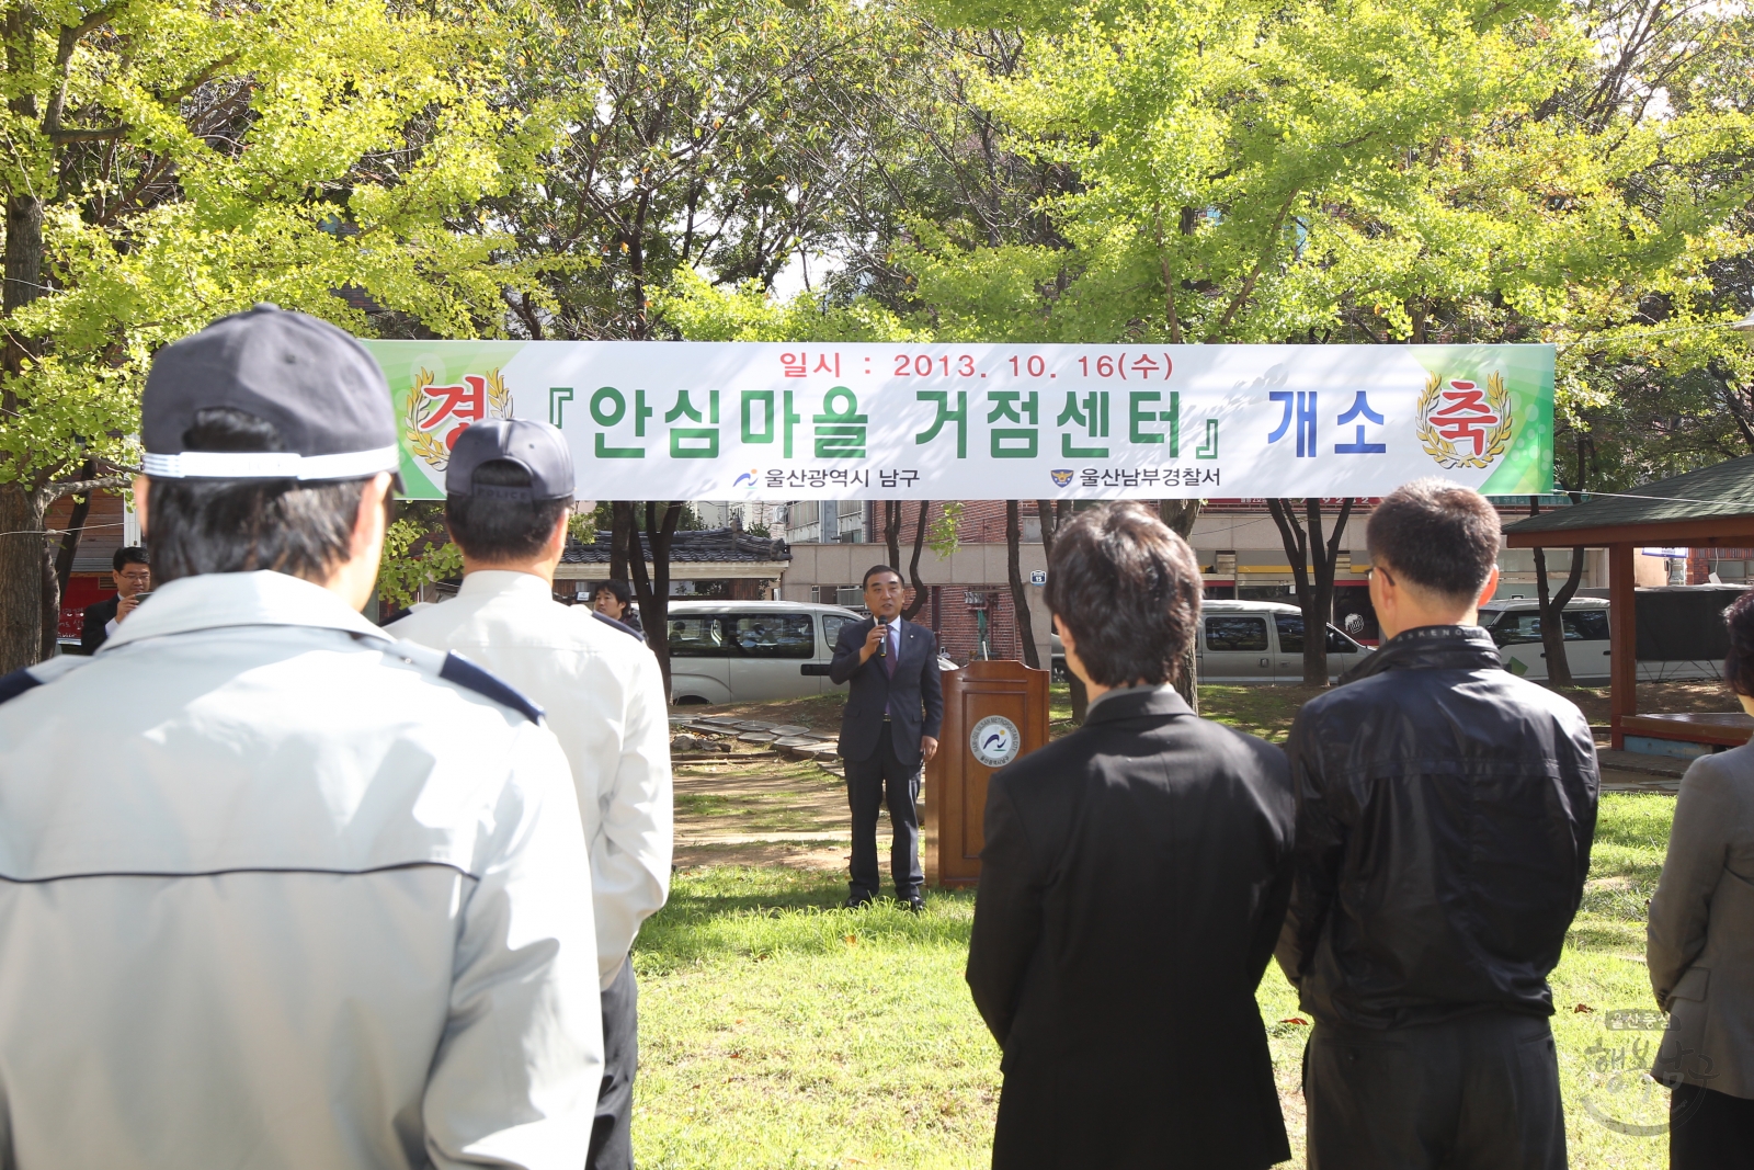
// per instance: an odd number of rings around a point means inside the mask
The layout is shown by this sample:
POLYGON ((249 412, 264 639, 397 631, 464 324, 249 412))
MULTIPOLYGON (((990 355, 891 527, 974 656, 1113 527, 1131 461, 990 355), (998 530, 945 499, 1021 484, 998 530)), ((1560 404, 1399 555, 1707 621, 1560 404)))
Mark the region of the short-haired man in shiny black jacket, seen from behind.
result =
POLYGON ((1589 870, 1596 747, 1475 624, 1498 512, 1422 479, 1366 530, 1382 647, 1291 728, 1279 965, 1316 1030, 1310 1170, 1561 1170, 1547 1017, 1589 870))

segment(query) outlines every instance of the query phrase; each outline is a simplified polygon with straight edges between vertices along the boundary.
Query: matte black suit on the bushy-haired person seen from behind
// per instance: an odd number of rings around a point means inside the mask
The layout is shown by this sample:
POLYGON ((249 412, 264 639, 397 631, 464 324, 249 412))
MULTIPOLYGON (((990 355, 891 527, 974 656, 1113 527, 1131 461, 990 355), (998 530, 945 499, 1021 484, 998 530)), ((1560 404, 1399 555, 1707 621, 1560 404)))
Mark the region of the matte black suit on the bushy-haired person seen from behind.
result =
POLYGON ((1175 691, 993 774, 968 986, 1005 1051, 996 1168, 1291 1156, 1254 989, 1294 819, 1284 754, 1175 691))

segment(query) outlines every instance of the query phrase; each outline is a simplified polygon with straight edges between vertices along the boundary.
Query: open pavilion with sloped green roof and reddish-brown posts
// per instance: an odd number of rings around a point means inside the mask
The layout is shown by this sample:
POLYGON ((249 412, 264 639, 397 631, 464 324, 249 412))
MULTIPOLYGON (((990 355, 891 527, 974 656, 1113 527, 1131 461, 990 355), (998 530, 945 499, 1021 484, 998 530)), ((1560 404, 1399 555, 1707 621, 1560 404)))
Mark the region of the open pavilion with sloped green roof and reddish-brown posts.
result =
POLYGON ((1754 733, 1742 712, 1638 714, 1638 610, 1633 558, 1645 547, 1754 546, 1754 454, 1614 496, 1556 509, 1505 526, 1512 549, 1605 547, 1612 623, 1612 746, 1628 735, 1691 744, 1740 746, 1754 733))

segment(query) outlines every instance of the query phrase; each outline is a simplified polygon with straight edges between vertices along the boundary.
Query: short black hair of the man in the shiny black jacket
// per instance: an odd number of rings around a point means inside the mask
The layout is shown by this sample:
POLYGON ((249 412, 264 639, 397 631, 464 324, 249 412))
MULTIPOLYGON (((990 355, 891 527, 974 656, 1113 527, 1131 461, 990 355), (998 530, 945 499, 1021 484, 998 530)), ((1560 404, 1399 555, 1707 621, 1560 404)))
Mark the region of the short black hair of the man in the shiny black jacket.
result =
POLYGON ((1498 510, 1473 488, 1415 479, 1365 524, 1370 560, 1451 602, 1473 602, 1498 565, 1498 510))

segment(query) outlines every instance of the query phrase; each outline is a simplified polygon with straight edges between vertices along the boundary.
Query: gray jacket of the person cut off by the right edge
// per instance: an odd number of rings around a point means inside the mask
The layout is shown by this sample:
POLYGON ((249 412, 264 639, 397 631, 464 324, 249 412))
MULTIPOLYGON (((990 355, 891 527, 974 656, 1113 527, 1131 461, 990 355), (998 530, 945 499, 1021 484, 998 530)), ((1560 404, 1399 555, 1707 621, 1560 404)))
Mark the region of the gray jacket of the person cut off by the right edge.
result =
POLYGON ((1754 746, 1680 781, 1647 938, 1670 1014, 1651 1075, 1754 1098, 1754 746))

